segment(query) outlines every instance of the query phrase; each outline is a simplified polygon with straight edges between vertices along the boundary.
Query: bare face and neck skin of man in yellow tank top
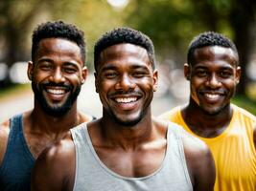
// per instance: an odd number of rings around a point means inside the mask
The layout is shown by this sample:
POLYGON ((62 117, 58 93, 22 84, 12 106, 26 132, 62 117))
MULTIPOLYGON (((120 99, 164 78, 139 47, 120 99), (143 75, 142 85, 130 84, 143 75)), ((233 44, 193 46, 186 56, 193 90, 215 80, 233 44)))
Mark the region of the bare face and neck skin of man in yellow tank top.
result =
POLYGON ((191 83, 191 96, 182 117, 198 136, 219 136, 233 114, 230 99, 241 75, 238 56, 219 46, 199 48, 190 65, 184 65, 184 74, 191 83))

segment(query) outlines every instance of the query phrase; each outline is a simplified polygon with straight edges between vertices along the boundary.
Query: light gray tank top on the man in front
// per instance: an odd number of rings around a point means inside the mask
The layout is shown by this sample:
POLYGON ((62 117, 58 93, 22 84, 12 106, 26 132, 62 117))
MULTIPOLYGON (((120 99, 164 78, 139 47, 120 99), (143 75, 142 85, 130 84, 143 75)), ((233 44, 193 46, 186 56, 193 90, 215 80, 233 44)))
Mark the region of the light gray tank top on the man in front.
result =
POLYGON ((118 175, 99 159, 82 123, 71 129, 76 148, 75 191, 190 191, 182 129, 170 123, 167 133, 167 151, 159 168, 146 177, 129 178, 118 175))

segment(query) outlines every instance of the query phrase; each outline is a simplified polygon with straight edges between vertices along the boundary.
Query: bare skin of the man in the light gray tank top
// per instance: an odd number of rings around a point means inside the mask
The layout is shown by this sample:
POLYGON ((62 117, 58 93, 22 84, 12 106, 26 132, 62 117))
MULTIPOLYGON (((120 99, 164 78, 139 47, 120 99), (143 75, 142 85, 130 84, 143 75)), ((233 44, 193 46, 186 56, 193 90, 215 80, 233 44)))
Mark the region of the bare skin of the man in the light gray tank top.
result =
MULTIPOLYGON (((98 157, 119 175, 150 175, 165 157, 168 124, 151 117, 158 74, 147 51, 126 43, 113 45, 101 53, 96 71, 103 117, 87 126, 98 157)), ((215 167, 208 147, 197 138, 182 140, 194 190, 213 190, 215 167)), ((75 146, 68 135, 37 159, 32 190, 72 190, 75 161, 75 146)))

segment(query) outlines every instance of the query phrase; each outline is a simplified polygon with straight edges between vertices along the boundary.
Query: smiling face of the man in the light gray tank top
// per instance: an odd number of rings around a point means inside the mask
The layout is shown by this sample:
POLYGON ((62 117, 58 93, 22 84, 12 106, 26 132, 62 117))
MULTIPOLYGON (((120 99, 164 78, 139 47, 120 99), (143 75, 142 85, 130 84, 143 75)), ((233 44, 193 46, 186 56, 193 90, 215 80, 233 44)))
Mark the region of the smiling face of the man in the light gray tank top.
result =
POLYGON ((101 53, 96 71, 104 115, 131 126, 148 114, 157 72, 152 71, 145 49, 128 43, 110 46, 101 53))

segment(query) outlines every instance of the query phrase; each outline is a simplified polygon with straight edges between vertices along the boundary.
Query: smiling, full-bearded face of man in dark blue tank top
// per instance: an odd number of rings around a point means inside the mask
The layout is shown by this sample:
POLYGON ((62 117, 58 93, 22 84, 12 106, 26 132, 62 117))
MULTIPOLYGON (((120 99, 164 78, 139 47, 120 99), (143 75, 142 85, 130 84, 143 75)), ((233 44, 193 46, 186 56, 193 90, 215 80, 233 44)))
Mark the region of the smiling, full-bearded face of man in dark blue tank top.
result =
POLYGON ((39 42, 35 63, 30 62, 35 104, 50 116, 66 114, 77 100, 87 75, 81 50, 76 43, 62 38, 46 38, 39 42))

